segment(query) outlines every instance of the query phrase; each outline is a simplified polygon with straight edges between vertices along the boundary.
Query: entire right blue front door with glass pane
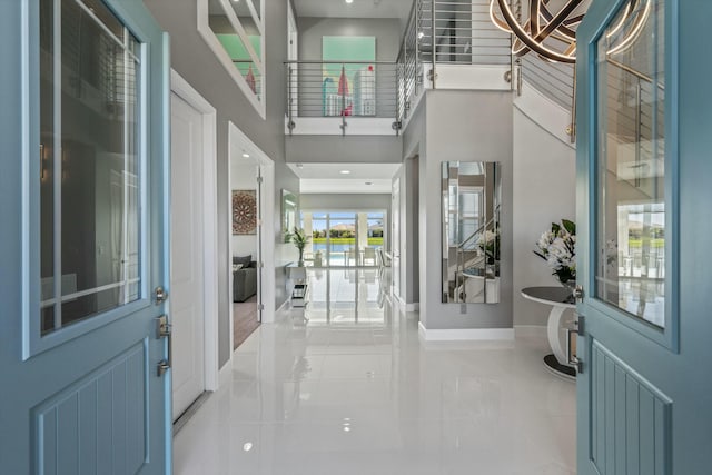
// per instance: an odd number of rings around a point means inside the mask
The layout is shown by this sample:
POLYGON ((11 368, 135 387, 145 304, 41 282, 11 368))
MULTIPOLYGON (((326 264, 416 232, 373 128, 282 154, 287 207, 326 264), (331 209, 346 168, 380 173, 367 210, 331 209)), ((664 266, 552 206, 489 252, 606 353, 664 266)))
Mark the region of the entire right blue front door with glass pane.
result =
POLYGON ((577 32, 578 474, 708 474, 709 1, 594 1, 577 32))

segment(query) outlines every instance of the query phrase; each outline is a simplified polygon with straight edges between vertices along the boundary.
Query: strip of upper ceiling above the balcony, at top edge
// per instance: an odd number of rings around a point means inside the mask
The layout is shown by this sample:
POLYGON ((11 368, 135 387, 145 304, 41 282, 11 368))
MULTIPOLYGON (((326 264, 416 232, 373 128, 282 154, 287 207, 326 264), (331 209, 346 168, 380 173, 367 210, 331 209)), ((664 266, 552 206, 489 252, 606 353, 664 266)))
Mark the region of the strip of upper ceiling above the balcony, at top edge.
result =
POLYGON ((399 18, 405 20, 413 0, 294 0, 297 17, 399 18))

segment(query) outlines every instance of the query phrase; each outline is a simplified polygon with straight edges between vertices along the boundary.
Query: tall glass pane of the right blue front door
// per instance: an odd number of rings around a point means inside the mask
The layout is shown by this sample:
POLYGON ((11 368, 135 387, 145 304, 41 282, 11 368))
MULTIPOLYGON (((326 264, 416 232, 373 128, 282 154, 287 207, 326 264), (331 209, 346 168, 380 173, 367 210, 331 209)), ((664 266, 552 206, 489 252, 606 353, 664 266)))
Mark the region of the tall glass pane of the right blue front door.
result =
POLYGON ((596 297, 665 326, 664 2, 621 9, 597 44, 596 297))

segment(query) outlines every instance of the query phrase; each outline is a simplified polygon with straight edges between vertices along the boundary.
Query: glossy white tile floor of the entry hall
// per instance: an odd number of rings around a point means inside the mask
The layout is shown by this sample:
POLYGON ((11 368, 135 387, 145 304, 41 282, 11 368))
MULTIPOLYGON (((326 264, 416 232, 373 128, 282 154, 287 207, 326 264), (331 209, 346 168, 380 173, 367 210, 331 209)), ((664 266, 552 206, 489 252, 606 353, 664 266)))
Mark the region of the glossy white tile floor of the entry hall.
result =
POLYGON ((237 349, 231 383, 176 436, 176 474, 575 473, 575 385, 544 369, 543 330, 424 344, 365 275, 323 273, 306 310, 237 349))

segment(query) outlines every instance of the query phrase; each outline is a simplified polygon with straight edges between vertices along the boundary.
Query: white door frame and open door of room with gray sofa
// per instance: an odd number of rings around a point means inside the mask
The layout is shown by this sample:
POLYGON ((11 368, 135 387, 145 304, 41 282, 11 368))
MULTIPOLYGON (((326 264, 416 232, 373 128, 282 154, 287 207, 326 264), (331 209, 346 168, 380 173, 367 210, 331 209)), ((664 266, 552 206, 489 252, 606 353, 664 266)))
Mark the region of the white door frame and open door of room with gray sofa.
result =
MULTIPOLYGON (((255 165, 260 167, 260 174, 263 177, 261 182, 261 196, 259 197, 260 209, 258 210, 258 216, 261 219, 261 226, 259 227, 259 231, 257 234, 257 238, 259 239, 257 251, 260 254, 257 256, 257 263, 263 263, 261 267, 258 267, 260 277, 258 281, 260 283, 259 288, 257 289, 258 305, 261 304, 264 306, 261 310, 261 320, 263 324, 271 324, 275 321, 275 286, 276 286, 276 275, 275 275, 275 254, 266 251, 266 249, 274 248, 276 243, 275 235, 275 162, 265 154, 255 142, 253 142, 249 137, 245 135, 231 120, 228 121, 228 172, 227 172, 227 194, 226 199, 228 202, 227 210, 227 219, 228 227, 227 229, 233 229, 233 190, 231 190, 231 164, 233 160, 237 160, 235 154, 238 150, 247 150, 250 157, 255 160, 255 165), (271 246, 270 246, 271 244, 271 246), (260 251, 261 249, 261 251, 260 251)), ((257 182, 257 176, 255 176, 255 182, 257 182)), ((257 185, 257 184, 256 184, 257 185)), ((257 187, 256 187, 257 189, 257 187)), ((228 237, 228 256, 233 256, 233 239, 231 232, 228 237)), ((229 273, 229 329, 230 329, 230 360, 233 358, 233 346, 234 342, 234 310, 233 310, 233 273, 229 273)))

